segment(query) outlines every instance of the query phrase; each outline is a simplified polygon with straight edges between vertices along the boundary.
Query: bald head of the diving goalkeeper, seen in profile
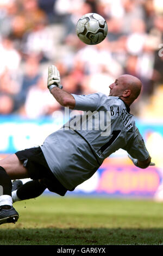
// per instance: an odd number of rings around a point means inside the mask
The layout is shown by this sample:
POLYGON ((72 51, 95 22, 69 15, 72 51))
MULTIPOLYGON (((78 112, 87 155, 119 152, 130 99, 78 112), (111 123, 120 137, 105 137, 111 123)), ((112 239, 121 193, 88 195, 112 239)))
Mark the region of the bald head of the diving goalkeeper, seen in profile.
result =
POLYGON ((119 96, 130 106, 139 96, 142 83, 135 76, 121 75, 109 87, 110 96, 119 96))

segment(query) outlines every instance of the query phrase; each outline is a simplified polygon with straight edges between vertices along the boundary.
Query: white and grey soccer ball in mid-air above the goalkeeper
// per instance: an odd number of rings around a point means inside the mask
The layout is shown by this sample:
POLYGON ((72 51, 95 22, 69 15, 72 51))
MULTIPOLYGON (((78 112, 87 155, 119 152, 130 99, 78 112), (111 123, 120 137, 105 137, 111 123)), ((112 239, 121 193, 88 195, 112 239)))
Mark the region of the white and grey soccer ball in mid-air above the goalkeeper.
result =
POLYGON ((87 13, 78 20, 76 33, 85 44, 97 45, 105 39, 108 25, 101 15, 87 13))

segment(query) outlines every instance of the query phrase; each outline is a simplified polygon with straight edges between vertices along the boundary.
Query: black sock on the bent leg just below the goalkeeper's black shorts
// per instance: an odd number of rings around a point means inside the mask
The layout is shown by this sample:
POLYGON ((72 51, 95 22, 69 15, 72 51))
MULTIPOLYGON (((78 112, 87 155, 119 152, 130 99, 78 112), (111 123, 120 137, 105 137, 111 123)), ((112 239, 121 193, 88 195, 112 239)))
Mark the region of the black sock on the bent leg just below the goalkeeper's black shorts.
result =
POLYGON ((46 190, 46 186, 41 184, 39 180, 32 180, 25 183, 23 186, 17 189, 17 197, 21 200, 39 197, 43 191, 46 190))

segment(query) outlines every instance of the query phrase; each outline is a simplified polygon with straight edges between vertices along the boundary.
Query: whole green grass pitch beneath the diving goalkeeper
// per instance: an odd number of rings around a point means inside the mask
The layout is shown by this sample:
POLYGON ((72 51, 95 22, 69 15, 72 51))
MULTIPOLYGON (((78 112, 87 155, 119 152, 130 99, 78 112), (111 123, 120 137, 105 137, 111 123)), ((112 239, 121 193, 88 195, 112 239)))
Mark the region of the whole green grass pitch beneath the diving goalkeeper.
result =
POLYGON ((43 195, 14 207, 0 245, 163 245, 163 203, 152 200, 43 195))

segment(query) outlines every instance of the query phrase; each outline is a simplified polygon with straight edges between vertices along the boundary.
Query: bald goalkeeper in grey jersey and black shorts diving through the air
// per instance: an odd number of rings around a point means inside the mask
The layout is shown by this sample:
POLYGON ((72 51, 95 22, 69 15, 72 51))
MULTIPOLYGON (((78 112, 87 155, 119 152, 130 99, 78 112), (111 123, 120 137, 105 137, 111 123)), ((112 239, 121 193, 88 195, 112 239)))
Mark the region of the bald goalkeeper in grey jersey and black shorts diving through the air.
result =
POLYGON ((73 121, 82 124, 84 120, 79 115, 78 119, 68 121, 49 135, 40 147, 21 150, 1 160, 0 224, 18 220, 13 202, 40 196, 46 188, 64 196, 89 179, 104 159, 120 148, 128 152, 139 168, 154 164, 130 114, 129 107, 139 96, 141 87, 138 78, 122 75, 110 84, 109 96, 102 93, 74 95, 62 89, 58 69, 49 66, 48 89, 60 105, 100 114, 101 126, 91 130, 79 129, 77 125, 77 129, 73 121), (109 113, 106 131, 102 129, 105 115, 101 113, 109 113), (32 180, 23 185, 19 179, 24 178, 32 180), (16 180, 13 185, 11 180, 16 180))

